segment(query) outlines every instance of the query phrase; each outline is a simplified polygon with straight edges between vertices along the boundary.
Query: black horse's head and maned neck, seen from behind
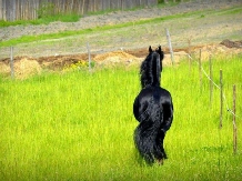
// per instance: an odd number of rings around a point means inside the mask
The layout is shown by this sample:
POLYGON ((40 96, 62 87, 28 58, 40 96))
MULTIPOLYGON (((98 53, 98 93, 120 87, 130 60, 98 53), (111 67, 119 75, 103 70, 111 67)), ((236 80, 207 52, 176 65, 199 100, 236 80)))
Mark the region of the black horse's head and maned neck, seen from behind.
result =
POLYGON ((149 54, 140 67, 142 88, 160 87, 163 58, 164 53, 160 46, 154 51, 149 47, 149 54))

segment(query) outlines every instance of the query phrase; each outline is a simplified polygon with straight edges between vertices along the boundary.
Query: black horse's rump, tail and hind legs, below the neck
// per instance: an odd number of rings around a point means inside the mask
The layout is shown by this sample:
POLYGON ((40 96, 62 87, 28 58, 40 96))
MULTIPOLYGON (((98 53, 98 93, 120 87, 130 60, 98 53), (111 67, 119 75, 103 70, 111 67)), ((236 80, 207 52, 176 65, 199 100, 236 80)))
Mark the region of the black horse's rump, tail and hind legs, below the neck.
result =
POLYGON ((142 89, 133 103, 133 114, 140 122, 134 131, 134 144, 147 163, 167 159, 163 149, 165 132, 173 119, 171 94, 160 87, 142 89))

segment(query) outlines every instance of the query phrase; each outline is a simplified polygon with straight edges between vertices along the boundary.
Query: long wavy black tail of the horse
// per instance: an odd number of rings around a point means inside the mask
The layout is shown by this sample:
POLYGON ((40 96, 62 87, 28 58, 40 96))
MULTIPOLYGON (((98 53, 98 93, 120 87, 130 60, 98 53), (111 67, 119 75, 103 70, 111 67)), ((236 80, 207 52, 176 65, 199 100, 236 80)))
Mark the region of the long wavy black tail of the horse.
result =
POLYGON ((148 164, 152 164, 154 158, 162 159, 160 141, 163 140, 158 140, 162 120, 162 108, 151 100, 148 109, 140 117, 140 124, 134 130, 134 144, 148 164))

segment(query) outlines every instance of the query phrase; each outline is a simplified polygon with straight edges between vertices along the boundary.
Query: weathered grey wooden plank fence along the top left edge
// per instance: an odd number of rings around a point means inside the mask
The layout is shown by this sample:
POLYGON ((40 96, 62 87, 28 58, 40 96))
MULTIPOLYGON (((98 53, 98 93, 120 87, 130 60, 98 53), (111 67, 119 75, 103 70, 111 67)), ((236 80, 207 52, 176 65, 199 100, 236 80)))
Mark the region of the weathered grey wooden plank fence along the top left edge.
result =
POLYGON ((82 16, 89 12, 125 10, 140 7, 151 7, 157 4, 157 0, 2 0, 0 2, 0 20, 36 20, 42 17, 70 13, 82 16))

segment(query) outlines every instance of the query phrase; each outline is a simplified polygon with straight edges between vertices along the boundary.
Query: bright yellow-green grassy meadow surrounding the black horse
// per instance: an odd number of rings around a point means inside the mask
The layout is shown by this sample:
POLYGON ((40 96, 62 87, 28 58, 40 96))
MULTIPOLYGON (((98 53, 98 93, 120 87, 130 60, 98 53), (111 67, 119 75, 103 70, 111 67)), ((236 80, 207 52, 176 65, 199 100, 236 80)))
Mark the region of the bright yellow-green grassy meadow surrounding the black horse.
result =
MULTIPOLYGON (((219 59, 219 58, 218 58, 219 59)), ((203 62, 209 72, 209 63, 203 62)), ((242 179, 242 57, 213 61, 214 82, 223 70, 232 108, 236 84, 238 152, 232 114, 214 87, 186 61, 163 69, 161 84, 174 103, 163 165, 140 164, 133 145, 138 122, 132 103, 140 91, 139 69, 113 68, 42 73, 26 80, 0 78, 0 180, 233 180, 242 179)))

